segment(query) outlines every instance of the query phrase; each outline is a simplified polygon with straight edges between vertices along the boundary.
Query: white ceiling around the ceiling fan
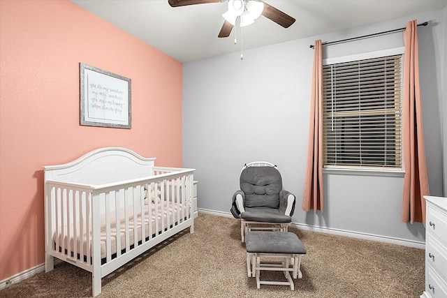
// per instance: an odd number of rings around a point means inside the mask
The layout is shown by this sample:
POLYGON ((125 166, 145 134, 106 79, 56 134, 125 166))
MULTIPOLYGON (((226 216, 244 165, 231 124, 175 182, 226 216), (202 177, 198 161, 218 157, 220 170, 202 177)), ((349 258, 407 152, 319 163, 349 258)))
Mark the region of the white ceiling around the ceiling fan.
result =
MULTIPOLYGON (((221 15, 226 11, 226 3, 173 8, 168 0, 71 1, 182 62, 238 52, 241 49, 240 28, 237 31, 237 45, 233 42, 234 29, 229 38, 217 38, 223 24, 221 15)), ((447 6, 447 0, 265 2, 295 17, 296 22, 284 29, 266 17, 259 17, 254 24, 243 29, 245 50, 393 20, 447 6)))

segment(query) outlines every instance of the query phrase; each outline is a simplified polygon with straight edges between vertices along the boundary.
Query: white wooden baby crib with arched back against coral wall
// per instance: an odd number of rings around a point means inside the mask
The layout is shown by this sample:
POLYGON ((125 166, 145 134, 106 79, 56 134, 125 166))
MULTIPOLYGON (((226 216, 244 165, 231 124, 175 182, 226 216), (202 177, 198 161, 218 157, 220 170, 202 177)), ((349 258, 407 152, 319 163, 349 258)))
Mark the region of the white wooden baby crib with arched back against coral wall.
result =
POLYGON ((177 232, 193 233, 193 169, 108 147, 45 166, 45 271, 54 257, 101 278, 177 232))

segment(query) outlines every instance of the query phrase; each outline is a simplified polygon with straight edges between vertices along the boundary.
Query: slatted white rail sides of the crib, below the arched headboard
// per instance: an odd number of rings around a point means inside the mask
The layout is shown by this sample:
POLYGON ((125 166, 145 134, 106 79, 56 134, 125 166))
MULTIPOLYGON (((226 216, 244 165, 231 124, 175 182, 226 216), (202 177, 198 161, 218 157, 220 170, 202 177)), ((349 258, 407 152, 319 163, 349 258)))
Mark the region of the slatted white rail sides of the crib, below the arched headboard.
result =
POLYGON ((190 169, 154 167, 152 176, 100 186, 47 180, 45 188, 45 255, 101 277, 175 232, 193 232, 190 169))

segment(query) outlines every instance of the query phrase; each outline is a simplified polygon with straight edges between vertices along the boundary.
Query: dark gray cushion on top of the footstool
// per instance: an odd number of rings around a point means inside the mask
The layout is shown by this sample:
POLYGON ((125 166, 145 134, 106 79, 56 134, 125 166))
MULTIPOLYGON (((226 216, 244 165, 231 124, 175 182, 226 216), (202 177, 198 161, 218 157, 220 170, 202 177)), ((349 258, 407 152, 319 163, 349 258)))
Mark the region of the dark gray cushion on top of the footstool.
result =
POLYGON ((245 247, 249 253, 306 253, 305 246, 292 232, 247 232, 245 247))

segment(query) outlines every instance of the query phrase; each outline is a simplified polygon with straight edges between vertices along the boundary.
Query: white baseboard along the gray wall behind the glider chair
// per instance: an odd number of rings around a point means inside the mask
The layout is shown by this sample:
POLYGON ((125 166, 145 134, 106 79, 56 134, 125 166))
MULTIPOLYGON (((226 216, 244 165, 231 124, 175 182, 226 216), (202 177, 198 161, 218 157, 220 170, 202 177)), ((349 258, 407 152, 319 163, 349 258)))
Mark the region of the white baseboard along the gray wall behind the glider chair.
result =
MULTIPOLYGON (((213 210, 200 209, 200 208, 198 208, 198 212, 203 213, 203 214, 210 214, 210 215, 234 218, 233 214, 230 214, 230 212, 213 211, 213 210)), ((379 241, 379 242, 384 242, 384 243, 389 243, 389 244, 397 244, 397 245, 401 245, 401 246, 409 246, 409 247, 413 247, 413 248, 425 249, 425 242, 423 242, 423 241, 412 241, 412 240, 408 240, 408 239, 400 239, 400 238, 381 236, 381 235, 376 235, 376 234, 367 234, 367 233, 362 233, 362 232, 353 232, 353 231, 349 231, 349 230, 317 227, 314 225, 306 225, 304 223, 292 223, 292 225, 295 226, 296 228, 299 228, 302 230, 323 232, 323 233, 327 233, 327 234, 336 234, 339 236, 353 237, 353 238, 358 238, 358 239, 379 241)))

